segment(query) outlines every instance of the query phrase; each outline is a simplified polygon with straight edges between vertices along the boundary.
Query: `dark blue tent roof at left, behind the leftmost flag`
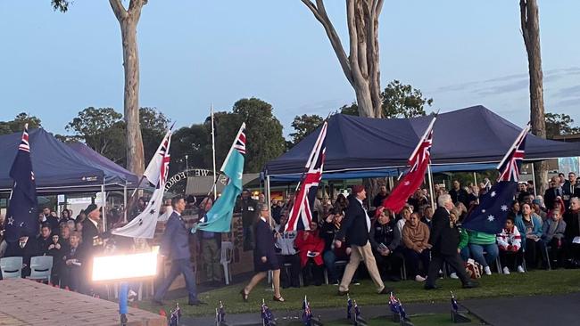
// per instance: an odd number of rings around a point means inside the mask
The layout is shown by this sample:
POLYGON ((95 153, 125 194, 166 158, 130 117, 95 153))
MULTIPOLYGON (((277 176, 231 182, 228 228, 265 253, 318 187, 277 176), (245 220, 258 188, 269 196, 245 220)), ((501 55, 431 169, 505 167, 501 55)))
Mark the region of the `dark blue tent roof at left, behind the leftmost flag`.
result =
MULTIPOLYGON (((0 136, 0 152, 3 153, 0 157, 0 191, 12 189, 9 174, 21 135, 15 133, 0 136)), ((44 129, 30 130, 29 143, 37 192, 95 191, 104 183, 124 184, 127 180, 127 175, 112 168, 104 168, 96 160, 87 159, 44 129)))

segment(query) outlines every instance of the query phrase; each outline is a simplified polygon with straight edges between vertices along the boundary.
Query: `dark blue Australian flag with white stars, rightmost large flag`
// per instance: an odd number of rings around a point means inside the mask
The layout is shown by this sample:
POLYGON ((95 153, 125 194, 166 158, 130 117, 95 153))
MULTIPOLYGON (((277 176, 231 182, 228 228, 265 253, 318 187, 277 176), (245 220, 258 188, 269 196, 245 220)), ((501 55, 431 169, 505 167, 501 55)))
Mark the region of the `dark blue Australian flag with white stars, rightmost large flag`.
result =
POLYGON ((497 183, 479 200, 479 206, 465 218, 463 228, 478 232, 496 234, 501 232, 508 217, 511 201, 518 190, 519 169, 524 160, 526 135, 529 124, 518 134, 510 151, 501 159, 497 169, 500 176, 497 183))

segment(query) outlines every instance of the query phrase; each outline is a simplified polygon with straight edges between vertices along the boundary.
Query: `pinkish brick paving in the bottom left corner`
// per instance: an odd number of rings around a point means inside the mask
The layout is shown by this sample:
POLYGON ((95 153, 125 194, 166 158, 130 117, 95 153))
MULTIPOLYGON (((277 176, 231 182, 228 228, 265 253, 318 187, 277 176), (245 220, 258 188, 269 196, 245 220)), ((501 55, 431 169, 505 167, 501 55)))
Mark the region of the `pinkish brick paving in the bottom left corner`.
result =
MULTIPOLYGON (((144 310, 128 310, 128 326, 165 326, 144 310)), ((119 325, 119 305, 24 279, 0 281, 0 325, 119 325)))

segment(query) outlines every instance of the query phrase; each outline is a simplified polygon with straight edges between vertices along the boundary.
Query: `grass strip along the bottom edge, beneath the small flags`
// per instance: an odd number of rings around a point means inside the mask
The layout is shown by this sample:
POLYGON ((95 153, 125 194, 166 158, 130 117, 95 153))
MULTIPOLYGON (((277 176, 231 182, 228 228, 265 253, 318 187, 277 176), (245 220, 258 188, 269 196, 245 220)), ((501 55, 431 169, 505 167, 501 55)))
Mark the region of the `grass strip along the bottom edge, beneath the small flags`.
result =
MULTIPOLYGON (((462 326, 476 326, 482 325, 479 320, 472 315, 468 315, 471 322, 461 323, 462 326)), ((452 326, 457 325, 451 321, 450 314, 418 314, 410 315, 410 321, 416 326, 452 326)), ((324 322, 324 321, 322 321, 324 322)), ((396 326, 397 322, 392 322, 390 318, 381 317, 367 320, 369 326, 396 326)), ((352 322, 335 321, 335 322, 324 322, 325 326, 352 326, 352 322)), ((289 323, 287 326, 303 326, 302 322, 289 323)))

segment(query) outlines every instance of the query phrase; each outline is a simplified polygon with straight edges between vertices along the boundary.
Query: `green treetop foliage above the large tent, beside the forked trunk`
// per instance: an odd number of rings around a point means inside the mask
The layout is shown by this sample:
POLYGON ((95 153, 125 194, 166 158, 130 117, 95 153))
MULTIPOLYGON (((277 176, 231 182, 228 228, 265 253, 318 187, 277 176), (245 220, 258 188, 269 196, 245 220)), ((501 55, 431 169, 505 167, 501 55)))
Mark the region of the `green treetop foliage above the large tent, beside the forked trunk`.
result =
MULTIPOLYGON (((413 118, 425 116, 425 106, 431 106, 433 99, 423 97, 423 93, 410 85, 404 85, 399 80, 393 80, 385 87, 383 93, 383 118, 413 118)), ((351 116, 359 115, 356 103, 344 105, 340 113, 351 116)))

